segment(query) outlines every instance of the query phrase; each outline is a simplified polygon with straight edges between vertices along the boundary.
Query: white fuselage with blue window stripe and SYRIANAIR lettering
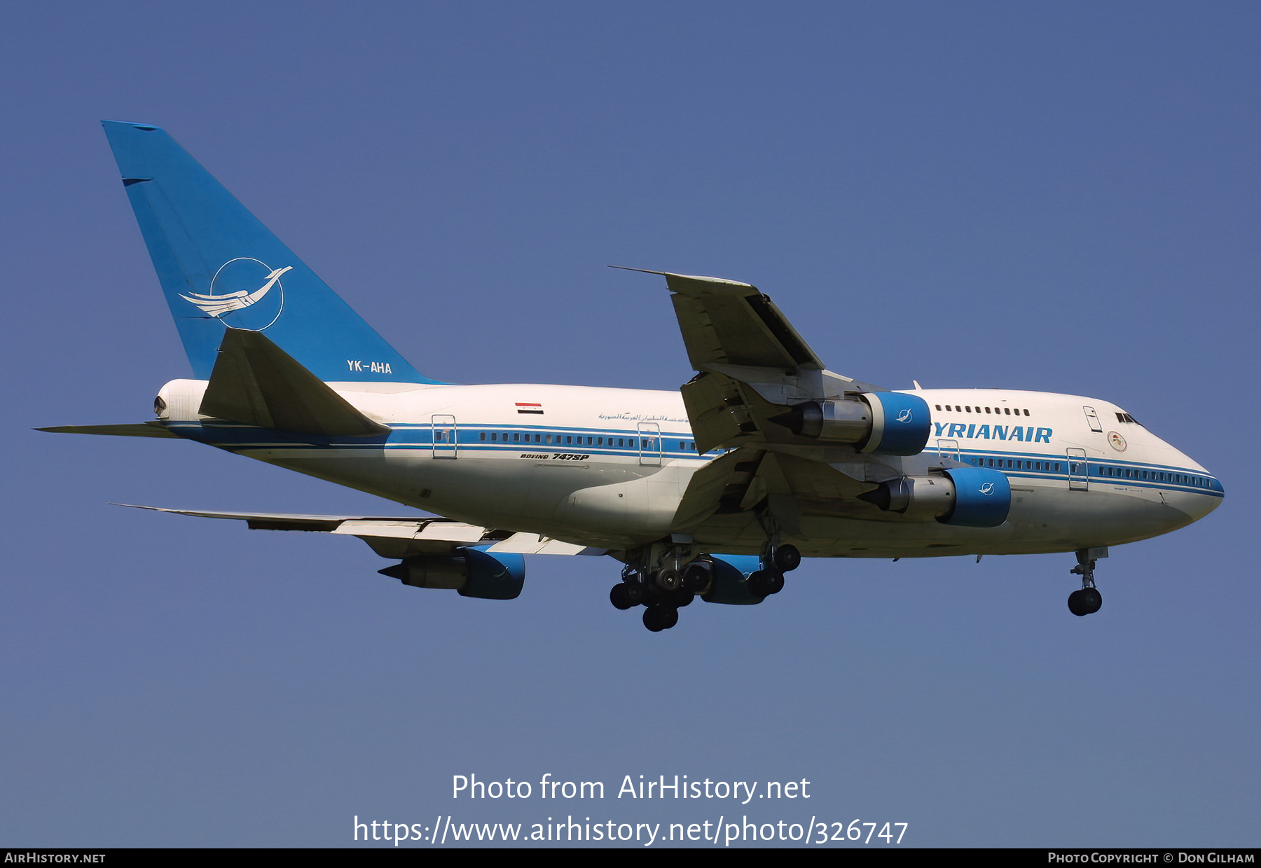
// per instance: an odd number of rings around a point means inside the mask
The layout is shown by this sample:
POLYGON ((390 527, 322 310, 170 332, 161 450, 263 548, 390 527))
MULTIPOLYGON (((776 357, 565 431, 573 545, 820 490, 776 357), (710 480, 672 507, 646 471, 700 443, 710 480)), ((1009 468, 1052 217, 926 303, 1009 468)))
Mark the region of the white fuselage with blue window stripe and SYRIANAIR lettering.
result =
MULTIPOLYGON (((678 392, 555 385, 329 384, 391 428, 381 438, 315 438, 199 416, 206 381, 163 387, 173 431, 250 458, 487 527, 627 549, 668 536, 699 454, 678 392)), ((919 455, 826 462, 860 482, 943 462, 1001 469, 1011 512, 999 527, 950 526, 868 503, 803 512, 808 556, 1072 551, 1165 534, 1221 502, 1221 483, 1125 411, 1097 399, 1008 390, 918 390, 932 411, 919 455)), ((709 550, 755 554, 749 515, 694 529, 709 550)))

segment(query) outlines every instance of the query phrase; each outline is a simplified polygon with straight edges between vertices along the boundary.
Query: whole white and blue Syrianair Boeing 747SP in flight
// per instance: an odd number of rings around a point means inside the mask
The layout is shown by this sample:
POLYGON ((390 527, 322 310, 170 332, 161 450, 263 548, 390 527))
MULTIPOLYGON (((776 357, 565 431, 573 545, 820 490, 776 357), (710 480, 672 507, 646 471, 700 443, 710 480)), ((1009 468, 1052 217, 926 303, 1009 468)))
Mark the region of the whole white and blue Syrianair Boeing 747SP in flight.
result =
POLYGON ((696 370, 678 392, 431 380, 163 130, 105 129, 195 378, 155 420, 40 430, 194 440, 440 517, 142 508, 357 536, 398 561, 381 573, 465 597, 517 597, 526 554, 609 555, 613 604, 660 631, 696 597, 763 602, 802 556, 1076 553, 1083 616, 1108 546, 1223 497, 1108 401, 832 373, 716 278, 649 273, 696 370))

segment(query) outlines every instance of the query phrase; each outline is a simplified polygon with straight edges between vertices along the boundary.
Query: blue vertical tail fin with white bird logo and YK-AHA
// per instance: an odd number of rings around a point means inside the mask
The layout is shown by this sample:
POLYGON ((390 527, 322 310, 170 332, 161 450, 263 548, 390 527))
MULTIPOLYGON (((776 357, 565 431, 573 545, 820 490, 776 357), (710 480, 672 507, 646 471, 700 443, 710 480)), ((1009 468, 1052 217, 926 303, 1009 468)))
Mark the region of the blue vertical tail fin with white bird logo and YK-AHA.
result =
POLYGON ((324 381, 433 384, 164 130, 102 121, 193 365, 228 328, 267 337, 324 381))

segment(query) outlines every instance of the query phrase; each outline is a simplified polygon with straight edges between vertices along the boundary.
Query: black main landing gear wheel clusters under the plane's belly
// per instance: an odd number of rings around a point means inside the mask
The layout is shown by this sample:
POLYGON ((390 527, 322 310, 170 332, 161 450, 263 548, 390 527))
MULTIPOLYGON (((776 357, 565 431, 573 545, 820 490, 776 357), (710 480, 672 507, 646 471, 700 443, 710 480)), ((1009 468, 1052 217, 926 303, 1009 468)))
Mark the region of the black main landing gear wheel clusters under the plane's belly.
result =
MULTIPOLYGON (((618 609, 643 606, 643 626, 654 633, 678 623, 678 609, 691 606, 699 594, 709 590, 714 580, 712 563, 695 558, 682 564, 682 558, 667 553, 661 569, 642 570, 627 565, 622 582, 609 590, 609 602, 618 609)), ((762 569, 749 574, 749 590, 755 597, 778 594, 784 587, 784 573, 797 569, 801 553, 793 545, 768 546, 762 569)))

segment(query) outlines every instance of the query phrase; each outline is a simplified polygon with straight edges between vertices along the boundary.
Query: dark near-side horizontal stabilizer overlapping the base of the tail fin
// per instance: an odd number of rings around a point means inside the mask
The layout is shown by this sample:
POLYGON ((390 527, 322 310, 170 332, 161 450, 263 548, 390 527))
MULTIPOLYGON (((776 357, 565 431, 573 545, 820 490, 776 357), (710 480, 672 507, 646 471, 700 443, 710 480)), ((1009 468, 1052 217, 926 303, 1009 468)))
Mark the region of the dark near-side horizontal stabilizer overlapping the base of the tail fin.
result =
POLYGON ((228 329, 199 413, 298 434, 381 437, 372 421, 261 332, 228 329))

